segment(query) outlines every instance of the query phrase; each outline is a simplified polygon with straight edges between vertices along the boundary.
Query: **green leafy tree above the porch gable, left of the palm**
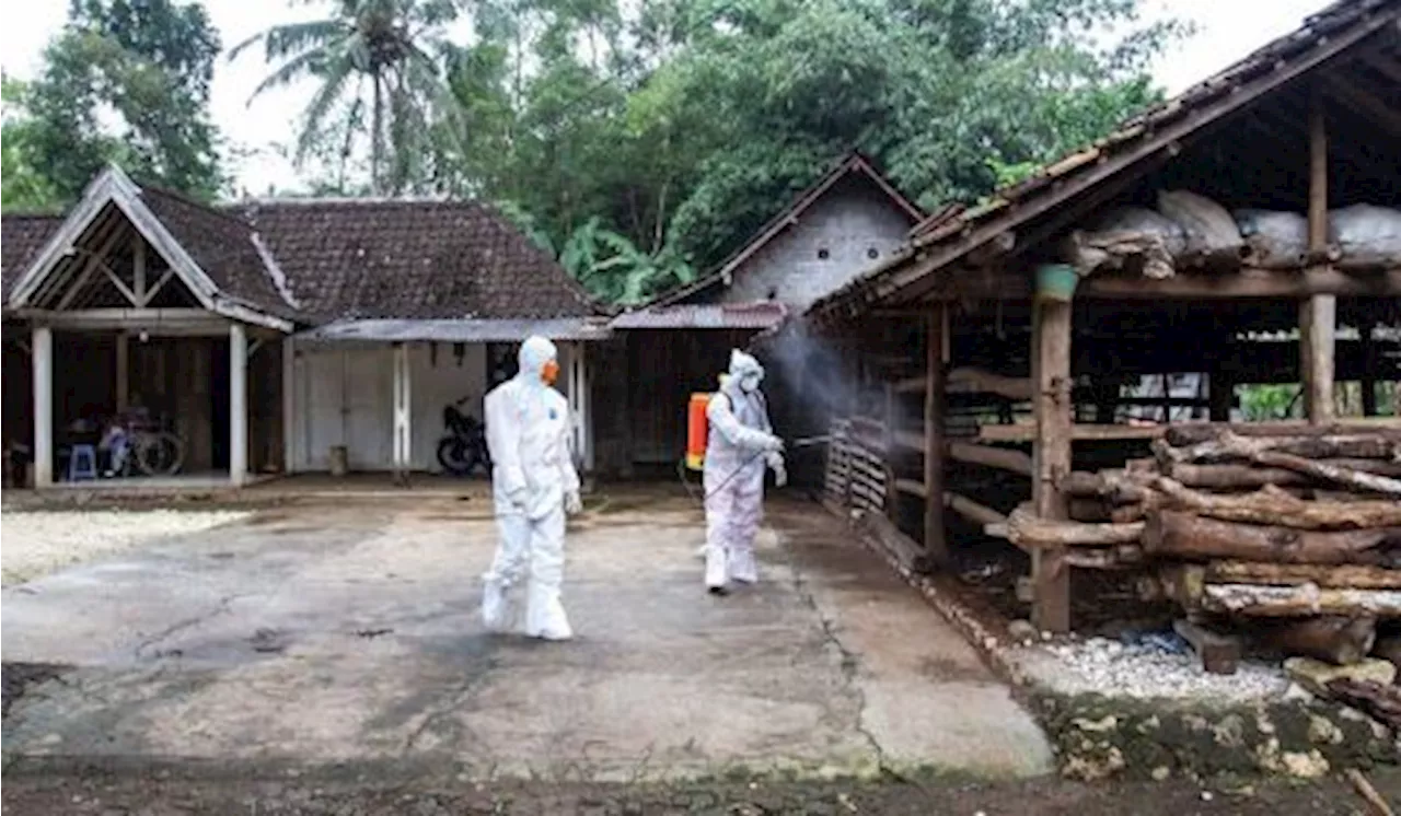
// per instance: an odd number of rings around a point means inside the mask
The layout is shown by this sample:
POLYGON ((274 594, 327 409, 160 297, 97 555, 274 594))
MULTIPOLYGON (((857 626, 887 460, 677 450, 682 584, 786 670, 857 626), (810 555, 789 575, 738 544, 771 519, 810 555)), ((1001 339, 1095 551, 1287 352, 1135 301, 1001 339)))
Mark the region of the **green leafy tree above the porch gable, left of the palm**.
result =
POLYGON ((209 84, 219 49, 198 3, 73 0, 29 94, 34 165, 66 200, 106 162, 216 195, 224 179, 209 84))

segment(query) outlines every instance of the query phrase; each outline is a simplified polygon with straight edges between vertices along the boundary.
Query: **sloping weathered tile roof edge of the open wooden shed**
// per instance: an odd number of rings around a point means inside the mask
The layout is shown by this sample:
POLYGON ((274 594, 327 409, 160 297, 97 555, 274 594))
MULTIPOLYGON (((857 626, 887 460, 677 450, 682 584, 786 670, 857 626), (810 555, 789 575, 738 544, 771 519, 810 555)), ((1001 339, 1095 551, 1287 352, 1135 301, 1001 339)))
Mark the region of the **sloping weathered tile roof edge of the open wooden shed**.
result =
MULTIPOLYGON (((1170 126, 1180 127, 1185 122, 1195 130, 1206 125, 1208 118, 1198 118, 1198 113, 1223 98, 1234 95, 1244 104, 1251 97, 1269 92, 1274 90, 1271 84, 1275 78, 1285 81, 1286 71, 1282 69, 1290 63, 1307 64, 1310 60, 1323 59, 1324 55, 1320 52, 1339 46, 1339 41, 1351 38, 1351 42, 1360 42, 1386 24, 1394 22, 1398 7, 1401 7, 1398 0, 1339 0, 1323 8, 1307 17, 1296 31, 1257 49, 1173 99, 1129 119, 1096 144, 1070 153, 1044 167, 1034 176, 998 190, 985 203, 943 207, 916 225, 911 231, 911 241, 890 260, 821 298, 813 304, 808 314, 814 316, 835 315, 838 311, 850 314, 852 309, 878 301, 877 290, 885 279, 923 255, 933 253, 936 248, 940 249, 939 265, 929 269, 929 273, 950 267, 962 253, 979 245, 965 241, 974 232, 1012 227, 1031 217, 1035 206, 1042 203, 1038 199, 1069 199, 1073 190, 1093 186, 1097 183, 1094 175, 1100 174, 1110 160, 1138 161, 1132 154, 1150 147, 1149 143, 1161 137, 1170 126), (1243 92, 1244 85, 1250 83, 1261 84, 1264 90, 1257 90, 1254 94, 1243 92), (958 245, 960 241, 965 244, 958 245), (941 253, 943 246, 947 246, 947 251, 961 246, 961 251, 946 258, 941 253)), ((1344 42, 1341 48, 1346 48, 1351 42, 1344 42)))

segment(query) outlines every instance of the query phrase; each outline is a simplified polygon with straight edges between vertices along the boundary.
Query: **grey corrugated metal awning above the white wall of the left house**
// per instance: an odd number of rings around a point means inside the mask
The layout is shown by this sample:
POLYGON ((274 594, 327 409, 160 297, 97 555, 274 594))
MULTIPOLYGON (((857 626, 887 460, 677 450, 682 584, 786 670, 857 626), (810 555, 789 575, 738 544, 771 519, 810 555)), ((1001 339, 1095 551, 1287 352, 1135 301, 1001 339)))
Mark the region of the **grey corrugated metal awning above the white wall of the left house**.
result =
POLYGON ((545 321, 513 319, 381 319, 336 321, 297 335, 321 342, 371 343, 518 343, 539 335, 551 340, 607 340, 611 335, 601 319, 559 318, 545 321))

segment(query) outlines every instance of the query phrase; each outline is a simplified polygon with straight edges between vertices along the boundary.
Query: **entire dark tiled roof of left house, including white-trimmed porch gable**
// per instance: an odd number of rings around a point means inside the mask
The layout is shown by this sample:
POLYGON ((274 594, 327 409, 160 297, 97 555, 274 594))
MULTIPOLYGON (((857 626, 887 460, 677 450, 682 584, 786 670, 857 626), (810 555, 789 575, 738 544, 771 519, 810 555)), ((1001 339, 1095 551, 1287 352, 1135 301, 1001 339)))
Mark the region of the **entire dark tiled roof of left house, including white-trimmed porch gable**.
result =
POLYGON ((363 319, 537 321, 604 309, 472 202, 280 199, 207 206, 104 171, 67 216, 0 216, 0 291, 34 297, 98 218, 122 213, 212 311, 282 330, 363 319))

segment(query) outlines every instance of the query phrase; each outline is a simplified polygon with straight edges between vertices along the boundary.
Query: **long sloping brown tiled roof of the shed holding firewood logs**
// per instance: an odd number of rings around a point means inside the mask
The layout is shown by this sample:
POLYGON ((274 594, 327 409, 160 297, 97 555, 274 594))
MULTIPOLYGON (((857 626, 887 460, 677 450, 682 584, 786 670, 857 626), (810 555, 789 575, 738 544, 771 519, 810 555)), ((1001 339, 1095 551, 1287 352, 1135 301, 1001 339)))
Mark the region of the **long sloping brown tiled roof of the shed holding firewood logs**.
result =
POLYGON ((1110 179, 1140 171, 1160 155, 1175 155, 1181 140, 1259 97, 1328 63, 1401 17, 1398 0, 1339 0, 1303 25, 1182 94, 1133 116, 1089 148, 1070 153, 1034 176, 993 193, 986 203, 944 207, 919 224, 908 245, 814 302, 817 319, 853 315, 894 298, 920 279, 953 269, 969 252, 1014 235, 1023 224, 1069 203, 1110 179))

